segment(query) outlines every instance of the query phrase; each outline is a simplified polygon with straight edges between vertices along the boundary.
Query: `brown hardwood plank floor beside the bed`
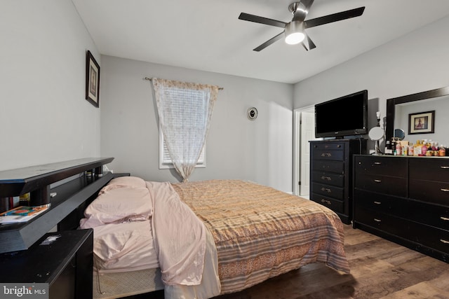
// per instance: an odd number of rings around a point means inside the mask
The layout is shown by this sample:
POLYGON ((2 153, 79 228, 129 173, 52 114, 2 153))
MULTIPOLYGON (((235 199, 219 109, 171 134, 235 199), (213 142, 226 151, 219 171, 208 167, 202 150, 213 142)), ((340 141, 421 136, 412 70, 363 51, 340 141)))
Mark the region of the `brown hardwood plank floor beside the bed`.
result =
POLYGON ((315 263, 215 299, 449 298, 449 264, 344 225, 351 274, 315 263))

